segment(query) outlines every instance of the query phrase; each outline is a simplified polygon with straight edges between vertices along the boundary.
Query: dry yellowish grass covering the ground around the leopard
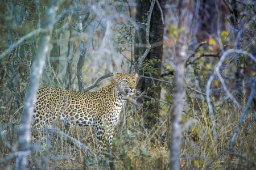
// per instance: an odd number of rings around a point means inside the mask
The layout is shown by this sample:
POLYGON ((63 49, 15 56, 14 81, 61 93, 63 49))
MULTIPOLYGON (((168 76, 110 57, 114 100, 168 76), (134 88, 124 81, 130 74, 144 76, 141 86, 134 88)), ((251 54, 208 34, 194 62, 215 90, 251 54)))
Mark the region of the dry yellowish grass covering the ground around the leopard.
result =
MULTIPOLYGON (((4 98, 2 98, 4 99, 4 98)), ((13 103, 6 103, 1 108, 0 117, 0 155, 2 168, 15 168, 15 157, 3 161, 17 149, 16 129, 20 124, 22 108, 13 103)), ((3 102, 3 101, 1 101, 3 102)), ((183 169, 253 169, 255 168, 255 112, 249 111, 238 133, 234 151, 230 157, 229 144, 238 124, 242 108, 238 109, 233 103, 223 103, 217 107, 217 135, 212 133, 212 122, 208 106, 203 100, 194 98, 183 114, 183 137, 181 143, 181 167, 183 169), (193 116, 193 117, 191 117, 193 116)), ((2 104, 3 105, 3 104, 2 104)), ((217 105, 215 103, 214 105, 217 105)), ((163 111, 165 111, 163 107, 163 111)), ((112 159, 108 156, 100 163, 91 162, 92 158, 79 147, 72 146, 65 139, 42 135, 47 142, 31 142, 38 146, 29 157, 30 168, 42 169, 102 169, 108 159, 107 169, 113 163, 116 169, 168 169, 169 155, 166 117, 162 113, 158 124, 148 130, 143 126, 143 118, 129 111, 125 128, 121 135, 114 139, 112 159)), ((85 146, 97 153, 97 141, 94 128, 65 128, 56 125, 67 135, 79 140, 85 146)), ((36 148, 36 147, 34 147, 36 148)))

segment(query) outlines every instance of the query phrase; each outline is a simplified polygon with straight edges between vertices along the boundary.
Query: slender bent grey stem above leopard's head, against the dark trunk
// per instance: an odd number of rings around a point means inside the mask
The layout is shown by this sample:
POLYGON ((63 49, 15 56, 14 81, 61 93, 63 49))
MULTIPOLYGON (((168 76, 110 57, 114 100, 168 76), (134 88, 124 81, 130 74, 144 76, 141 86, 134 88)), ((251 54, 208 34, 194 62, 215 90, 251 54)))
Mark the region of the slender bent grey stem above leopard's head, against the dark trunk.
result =
POLYGON ((147 54, 150 52, 150 49, 151 49, 151 45, 150 45, 150 42, 149 42, 149 31, 150 31, 150 20, 151 20, 151 15, 152 15, 154 5, 155 5, 155 0, 152 0, 150 10, 149 10, 149 14, 147 16, 147 24, 146 24, 146 44, 147 44, 146 45, 146 51, 144 52, 142 57, 139 58, 135 73, 139 73, 139 70, 141 70, 141 67, 142 67, 142 62, 147 57, 147 54))

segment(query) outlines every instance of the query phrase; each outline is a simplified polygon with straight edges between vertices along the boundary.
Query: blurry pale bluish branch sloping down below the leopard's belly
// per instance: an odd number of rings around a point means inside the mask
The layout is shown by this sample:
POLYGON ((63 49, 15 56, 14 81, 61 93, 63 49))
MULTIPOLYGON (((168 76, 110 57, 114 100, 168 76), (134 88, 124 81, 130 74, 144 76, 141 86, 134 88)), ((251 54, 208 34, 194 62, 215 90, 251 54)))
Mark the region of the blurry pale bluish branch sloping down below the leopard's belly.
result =
POLYGON ((70 137, 69 135, 65 134, 63 131, 57 129, 57 128, 44 128, 44 129, 34 129, 33 130, 35 133, 51 133, 53 137, 56 138, 63 138, 65 139, 68 143, 70 143, 73 146, 76 146, 78 148, 81 148, 82 150, 85 150, 86 153, 90 156, 94 156, 95 154, 93 151, 90 150, 90 148, 84 146, 81 142, 77 141, 77 139, 70 137))

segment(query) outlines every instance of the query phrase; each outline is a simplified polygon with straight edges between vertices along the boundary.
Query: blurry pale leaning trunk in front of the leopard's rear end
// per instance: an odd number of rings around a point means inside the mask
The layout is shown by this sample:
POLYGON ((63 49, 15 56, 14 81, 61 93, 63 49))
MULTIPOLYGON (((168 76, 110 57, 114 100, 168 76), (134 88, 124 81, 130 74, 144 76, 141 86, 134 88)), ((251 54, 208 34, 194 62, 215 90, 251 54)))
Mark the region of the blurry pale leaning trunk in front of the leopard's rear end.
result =
POLYGON ((19 127, 19 156, 16 158, 16 169, 26 169, 28 165, 27 156, 30 154, 31 121, 34 111, 34 99, 39 87, 39 81, 46 61, 46 53, 49 48, 49 39, 55 22, 55 14, 60 1, 51 1, 46 11, 42 28, 45 29, 39 37, 38 52, 32 65, 30 83, 28 84, 27 97, 24 103, 22 124, 19 127))

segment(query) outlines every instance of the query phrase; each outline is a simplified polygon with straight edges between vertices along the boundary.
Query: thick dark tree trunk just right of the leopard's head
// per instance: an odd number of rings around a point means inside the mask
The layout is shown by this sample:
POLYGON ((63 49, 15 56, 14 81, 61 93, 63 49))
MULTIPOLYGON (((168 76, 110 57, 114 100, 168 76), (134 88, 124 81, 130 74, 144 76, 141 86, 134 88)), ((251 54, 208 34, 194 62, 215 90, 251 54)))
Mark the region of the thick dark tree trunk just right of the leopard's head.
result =
MULTIPOLYGON (((152 50, 150 53, 148 53, 147 57, 145 58, 144 62, 153 61, 148 65, 146 69, 149 69, 151 71, 147 71, 148 73, 144 73, 143 70, 139 70, 139 75, 148 76, 151 78, 160 79, 161 74, 161 66, 162 66, 162 55, 163 55, 163 32, 164 32, 164 23, 162 20, 162 16, 164 18, 164 5, 166 4, 166 0, 158 1, 160 8, 158 5, 155 4, 151 16, 151 22, 150 22, 150 44, 152 45, 152 50), (162 12, 161 12, 162 10, 162 12)), ((136 20, 138 22, 143 23, 144 18, 146 18, 145 13, 149 10, 151 5, 150 1, 137 1, 137 15, 136 20)), ((142 48, 141 46, 146 44, 145 40, 145 28, 144 25, 141 25, 142 27, 139 28, 135 32, 135 59, 138 60, 139 57, 142 56, 145 48, 142 48)), ((142 67, 143 68, 143 67, 142 67)), ((160 98, 160 82, 154 79, 150 78, 141 78, 141 80, 138 83, 137 88, 141 90, 142 92, 146 92, 145 95, 148 97, 154 98, 156 100, 159 100, 160 98)), ((144 108, 147 107, 147 113, 143 113, 143 116, 145 115, 146 121, 150 122, 150 127, 154 126, 157 122, 157 117, 159 115, 160 106, 159 103, 150 103, 149 105, 144 105, 144 108)), ((148 127, 148 128, 150 128, 148 127)))

